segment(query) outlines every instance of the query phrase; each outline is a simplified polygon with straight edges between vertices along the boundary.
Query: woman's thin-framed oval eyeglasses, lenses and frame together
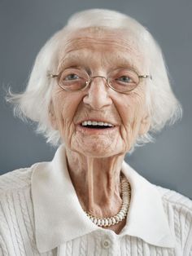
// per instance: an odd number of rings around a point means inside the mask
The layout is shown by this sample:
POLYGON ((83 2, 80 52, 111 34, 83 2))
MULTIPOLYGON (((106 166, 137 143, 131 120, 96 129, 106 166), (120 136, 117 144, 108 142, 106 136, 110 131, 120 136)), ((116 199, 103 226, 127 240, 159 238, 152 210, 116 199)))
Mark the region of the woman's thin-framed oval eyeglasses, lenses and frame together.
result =
POLYGON ((133 69, 116 68, 107 74, 107 77, 90 77, 85 69, 66 68, 58 75, 50 74, 50 77, 56 77, 58 85, 67 91, 85 90, 94 78, 103 78, 107 86, 120 93, 126 93, 134 90, 142 78, 150 78, 151 75, 138 75, 133 69))

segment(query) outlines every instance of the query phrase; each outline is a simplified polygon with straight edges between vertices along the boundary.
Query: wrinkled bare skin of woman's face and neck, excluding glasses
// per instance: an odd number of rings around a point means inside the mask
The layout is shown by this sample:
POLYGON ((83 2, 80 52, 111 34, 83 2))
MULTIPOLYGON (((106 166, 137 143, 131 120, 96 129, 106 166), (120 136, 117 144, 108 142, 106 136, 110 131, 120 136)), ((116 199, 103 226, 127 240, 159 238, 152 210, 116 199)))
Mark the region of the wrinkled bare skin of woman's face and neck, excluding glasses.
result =
MULTIPOLYGON (((106 77, 110 70, 120 67, 148 73, 133 38, 114 29, 81 29, 70 34, 60 53, 58 73, 72 66, 85 68, 91 76, 106 77)), ((66 145, 69 173, 82 208, 99 217, 117 214, 122 203, 120 170, 124 155, 150 126, 146 80, 126 94, 107 87, 100 77, 86 90, 76 92, 61 89, 55 81, 50 121, 66 145), (87 132, 80 126, 85 120, 107 121, 115 128, 87 132)), ((124 223, 108 228, 119 233, 124 223)))

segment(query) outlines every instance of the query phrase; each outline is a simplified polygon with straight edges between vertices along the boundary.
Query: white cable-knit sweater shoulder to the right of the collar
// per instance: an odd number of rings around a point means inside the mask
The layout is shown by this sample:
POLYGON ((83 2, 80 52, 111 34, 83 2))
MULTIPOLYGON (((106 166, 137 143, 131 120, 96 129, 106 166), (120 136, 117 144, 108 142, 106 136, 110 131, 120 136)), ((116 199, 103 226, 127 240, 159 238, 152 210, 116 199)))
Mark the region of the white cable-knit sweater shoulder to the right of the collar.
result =
POLYGON ((183 255, 192 254, 192 201, 178 192, 155 187, 161 195, 169 227, 183 255))

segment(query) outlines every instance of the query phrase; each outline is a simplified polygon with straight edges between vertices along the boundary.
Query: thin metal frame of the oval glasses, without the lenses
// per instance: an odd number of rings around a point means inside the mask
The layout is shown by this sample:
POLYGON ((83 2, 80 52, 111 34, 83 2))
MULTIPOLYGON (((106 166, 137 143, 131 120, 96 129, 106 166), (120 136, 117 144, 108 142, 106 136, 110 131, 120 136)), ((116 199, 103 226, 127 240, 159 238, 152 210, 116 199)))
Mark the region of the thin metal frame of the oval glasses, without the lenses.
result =
MULTIPOLYGON (((66 69, 69 69, 69 68, 66 68, 66 69)), ((64 70, 66 70, 66 69, 64 69, 64 70)), ((80 70, 81 70, 81 68, 76 68, 76 69, 80 69, 80 70)), ((108 86, 109 88, 111 88, 112 90, 116 90, 116 89, 111 85, 111 83, 110 83, 109 74, 110 74, 111 72, 113 72, 113 71, 118 70, 118 69, 128 69, 128 70, 131 70, 132 72, 134 72, 134 73, 137 74, 137 72, 136 72, 133 68, 116 68, 116 69, 111 70, 111 71, 107 74, 107 77, 103 77, 103 76, 93 76, 93 77, 90 77, 89 74, 85 71, 85 69, 82 69, 82 70, 87 74, 87 77, 89 77, 89 80, 85 82, 85 86, 84 86, 82 89, 80 89, 80 90, 68 90, 68 89, 66 89, 66 88, 63 88, 63 86, 61 86, 61 85, 59 84, 59 78, 61 77, 61 74, 63 73, 64 70, 61 71, 59 74, 52 74, 52 73, 50 73, 50 77, 51 77, 51 78, 57 78, 57 83, 58 83, 59 87, 62 88, 63 90, 71 91, 71 92, 76 92, 76 91, 85 90, 85 89, 91 84, 91 82, 93 81, 93 79, 94 79, 94 78, 97 78, 97 77, 104 78, 104 79, 106 80, 106 82, 107 82, 107 86, 108 86)), ((138 77, 138 81, 139 81, 139 82, 137 83, 137 86, 139 85, 141 78, 144 78, 144 79, 145 79, 145 78, 150 78, 150 79, 152 80, 152 76, 151 76, 151 75, 138 75, 138 74, 137 74, 137 77, 138 77)), ((131 90, 124 90, 124 91, 116 90, 116 91, 119 92, 119 93, 127 93, 127 92, 132 91, 132 90, 134 90, 135 88, 137 88, 137 86, 135 86, 135 87, 134 87, 133 89, 131 89, 131 90)))

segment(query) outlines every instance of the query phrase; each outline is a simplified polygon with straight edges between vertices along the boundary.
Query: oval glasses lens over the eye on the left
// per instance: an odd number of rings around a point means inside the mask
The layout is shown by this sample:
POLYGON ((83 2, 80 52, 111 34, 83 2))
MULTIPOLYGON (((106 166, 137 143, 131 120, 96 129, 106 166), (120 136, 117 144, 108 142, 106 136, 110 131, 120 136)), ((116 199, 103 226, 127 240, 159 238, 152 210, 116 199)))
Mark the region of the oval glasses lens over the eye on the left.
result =
POLYGON ((79 68, 67 68, 59 76, 59 86, 64 90, 82 90, 88 81, 88 74, 79 68))

